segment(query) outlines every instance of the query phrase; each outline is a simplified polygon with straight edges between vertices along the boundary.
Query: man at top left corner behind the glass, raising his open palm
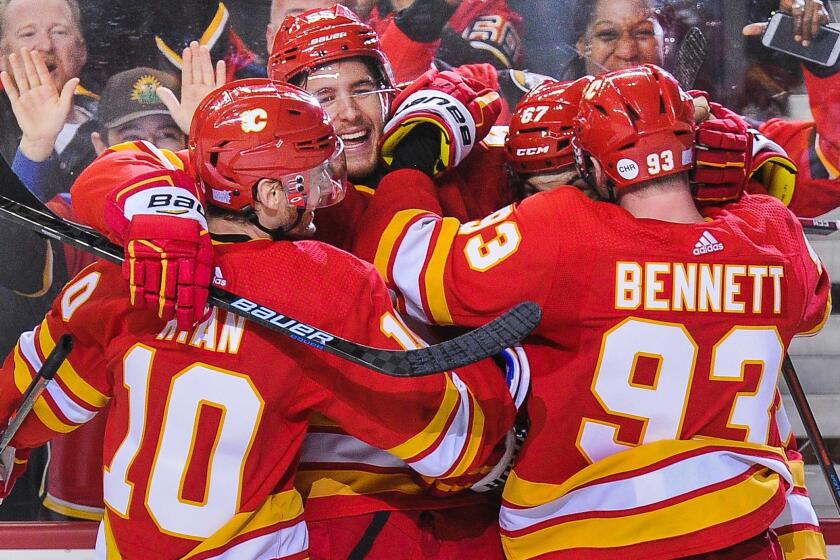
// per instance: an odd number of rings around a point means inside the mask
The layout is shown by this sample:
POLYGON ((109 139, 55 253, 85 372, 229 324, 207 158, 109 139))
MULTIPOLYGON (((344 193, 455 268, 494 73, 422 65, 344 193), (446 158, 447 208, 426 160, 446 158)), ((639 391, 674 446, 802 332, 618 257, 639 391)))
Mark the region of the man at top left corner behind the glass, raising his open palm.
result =
MULTIPOLYGON (((0 55, 3 67, 26 79, 17 86, 4 82, 0 96, 0 152, 12 161, 15 152, 33 162, 55 159, 57 171, 46 192, 35 193, 49 200, 70 190, 73 179, 95 154, 90 133, 96 97, 79 85, 79 73, 87 61, 76 0, 11 0, 0 4, 0 55), (52 83, 61 95, 38 109, 37 118, 18 103, 20 90, 38 90, 46 76, 35 72, 24 51, 43 57, 52 83), (24 112, 21 112, 21 111, 24 112)), ((44 99, 51 98, 51 92, 44 99)))

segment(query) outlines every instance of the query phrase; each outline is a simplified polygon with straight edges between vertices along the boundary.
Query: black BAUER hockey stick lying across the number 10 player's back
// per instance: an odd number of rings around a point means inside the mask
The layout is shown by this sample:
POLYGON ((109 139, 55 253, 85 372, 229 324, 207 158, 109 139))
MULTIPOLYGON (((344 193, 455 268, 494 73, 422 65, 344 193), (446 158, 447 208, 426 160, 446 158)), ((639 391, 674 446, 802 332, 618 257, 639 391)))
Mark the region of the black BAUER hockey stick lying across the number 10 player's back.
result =
MULTIPOLYGON (((96 232, 57 217, 26 189, 2 157, 0 162, 0 218, 112 263, 122 263, 120 247, 96 232)), ((401 351, 356 344, 218 288, 213 288, 208 301, 298 342, 394 377, 430 375, 498 354, 528 336, 542 317, 540 306, 526 301, 461 336, 425 348, 401 351)))

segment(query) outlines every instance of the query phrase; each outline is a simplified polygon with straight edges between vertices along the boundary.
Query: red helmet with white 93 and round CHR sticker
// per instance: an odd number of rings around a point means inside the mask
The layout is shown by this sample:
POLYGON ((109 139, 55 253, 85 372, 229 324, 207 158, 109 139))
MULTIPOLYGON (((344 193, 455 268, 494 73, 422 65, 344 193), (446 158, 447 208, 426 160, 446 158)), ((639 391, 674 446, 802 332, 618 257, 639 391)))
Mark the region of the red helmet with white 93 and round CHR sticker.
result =
POLYGON ((596 160, 615 191, 694 165, 694 105, 665 70, 645 64, 596 78, 575 118, 575 160, 596 160))

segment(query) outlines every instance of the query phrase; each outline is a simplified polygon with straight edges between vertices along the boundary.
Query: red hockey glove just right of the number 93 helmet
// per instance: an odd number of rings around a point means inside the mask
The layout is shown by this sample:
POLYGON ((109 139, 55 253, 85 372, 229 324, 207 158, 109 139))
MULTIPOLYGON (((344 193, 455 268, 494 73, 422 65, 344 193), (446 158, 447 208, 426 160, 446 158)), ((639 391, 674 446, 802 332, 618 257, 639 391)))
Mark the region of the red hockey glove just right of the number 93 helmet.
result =
POLYGON ((749 180, 752 166, 753 137, 747 123, 728 109, 715 109, 712 113, 717 118, 697 127, 697 166, 692 180, 698 202, 737 200, 749 180))

